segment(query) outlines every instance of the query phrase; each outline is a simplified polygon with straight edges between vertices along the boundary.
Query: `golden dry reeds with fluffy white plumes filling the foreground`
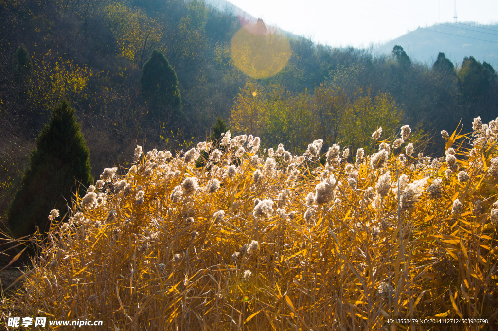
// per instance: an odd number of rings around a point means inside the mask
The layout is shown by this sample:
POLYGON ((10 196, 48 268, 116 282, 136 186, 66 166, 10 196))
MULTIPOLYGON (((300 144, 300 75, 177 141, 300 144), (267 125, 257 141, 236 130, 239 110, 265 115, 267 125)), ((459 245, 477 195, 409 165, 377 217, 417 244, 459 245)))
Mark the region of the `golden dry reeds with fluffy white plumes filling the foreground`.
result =
POLYGON ((228 133, 209 154, 206 143, 176 156, 137 148, 125 176, 106 169, 53 226, 2 319, 20 309, 151 331, 486 318, 416 328, 491 330, 498 118, 476 121, 472 135, 443 133, 440 159, 400 155, 410 152, 406 128, 403 142, 377 137, 380 150, 358 151, 355 164, 337 145, 320 163, 321 141, 299 157, 279 148, 261 158, 258 139, 228 133), (200 155, 209 160, 196 167, 200 155))

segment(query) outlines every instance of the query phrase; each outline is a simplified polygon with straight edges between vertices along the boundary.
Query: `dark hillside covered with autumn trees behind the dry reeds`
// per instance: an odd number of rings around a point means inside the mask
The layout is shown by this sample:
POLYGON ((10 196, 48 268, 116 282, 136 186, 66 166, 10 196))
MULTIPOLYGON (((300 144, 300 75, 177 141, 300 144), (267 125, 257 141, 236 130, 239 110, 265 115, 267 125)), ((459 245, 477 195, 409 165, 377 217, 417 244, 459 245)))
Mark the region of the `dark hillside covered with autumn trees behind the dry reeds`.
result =
POLYGON ((362 146, 373 127, 407 123, 415 137, 426 140, 419 148, 427 154, 444 150, 440 140, 431 139, 441 129, 461 121, 468 131, 474 117, 488 122, 498 112, 497 74, 488 62, 473 57, 473 48, 459 63, 434 51, 439 59, 434 65, 410 59, 403 44, 394 45, 387 55, 332 48, 287 36, 267 28, 262 20, 220 11, 200 0, 4 3, 3 211, 19 188, 35 137, 62 100, 77 110, 94 178, 110 164, 128 166, 137 143, 186 150, 210 136, 219 116, 234 133, 260 128, 266 148, 275 148, 272 145, 284 139, 285 148, 294 151, 322 137, 325 146, 362 146), (241 28, 249 32, 239 35, 255 34, 251 47, 285 49, 276 74, 251 77, 252 71, 240 69, 243 64, 256 68, 253 58, 241 58, 244 54, 274 54, 240 48, 240 56, 234 58, 232 40, 241 28), (181 96, 181 105, 174 103, 178 111, 160 120, 153 115, 157 98, 140 82, 155 49, 173 69, 173 90, 181 96))

